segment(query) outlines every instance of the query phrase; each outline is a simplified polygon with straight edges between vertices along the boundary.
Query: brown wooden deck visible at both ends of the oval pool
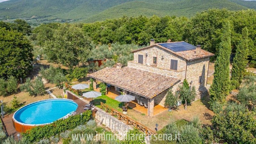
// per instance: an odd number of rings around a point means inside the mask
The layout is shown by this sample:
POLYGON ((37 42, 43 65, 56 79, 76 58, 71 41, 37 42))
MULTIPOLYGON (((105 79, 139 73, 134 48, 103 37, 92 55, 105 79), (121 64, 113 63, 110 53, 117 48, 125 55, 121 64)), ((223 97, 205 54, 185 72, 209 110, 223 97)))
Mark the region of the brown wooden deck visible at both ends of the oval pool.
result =
MULTIPOLYGON (((84 106, 87 104, 85 103, 83 100, 74 100, 74 102, 77 103, 78 107, 76 109, 76 115, 79 115, 80 113, 83 113, 85 112, 84 109, 84 106)), ((3 118, 3 123, 4 123, 4 126, 6 128, 6 131, 8 133, 8 136, 13 136, 15 140, 18 140, 18 137, 17 137, 17 134, 20 133, 20 132, 17 132, 12 124, 12 116, 13 116, 14 113, 10 114, 10 115, 5 115, 4 118, 3 118)), ((21 135, 20 135, 20 138, 21 138, 21 135)))

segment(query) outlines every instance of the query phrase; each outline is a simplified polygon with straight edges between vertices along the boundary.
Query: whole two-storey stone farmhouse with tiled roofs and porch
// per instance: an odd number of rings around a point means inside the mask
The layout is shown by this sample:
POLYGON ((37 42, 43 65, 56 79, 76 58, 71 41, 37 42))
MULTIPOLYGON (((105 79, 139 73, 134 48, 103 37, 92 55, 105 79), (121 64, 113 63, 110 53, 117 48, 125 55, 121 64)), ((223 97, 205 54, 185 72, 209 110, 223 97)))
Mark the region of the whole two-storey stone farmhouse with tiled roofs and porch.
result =
MULTIPOLYGON (((186 42, 155 43, 132 51, 134 60, 128 61, 127 67, 104 68, 89 77, 104 82, 112 90, 135 96, 147 109, 148 116, 156 115, 157 108, 164 107, 169 88, 175 92, 187 79, 190 86, 195 86, 197 98, 206 91, 209 59, 212 54, 186 42)), ((135 100, 135 103, 137 103, 135 100)))

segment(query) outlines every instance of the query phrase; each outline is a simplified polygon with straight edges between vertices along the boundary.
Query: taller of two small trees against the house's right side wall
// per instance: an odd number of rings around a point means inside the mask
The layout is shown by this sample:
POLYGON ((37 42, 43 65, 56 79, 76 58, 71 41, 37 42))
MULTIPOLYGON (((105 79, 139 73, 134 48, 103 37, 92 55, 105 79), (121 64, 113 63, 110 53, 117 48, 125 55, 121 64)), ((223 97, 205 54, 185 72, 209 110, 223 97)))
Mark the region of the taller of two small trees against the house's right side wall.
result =
POLYGON ((185 101, 185 109, 187 109, 187 102, 193 101, 196 98, 196 89, 194 86, 190 89, 186 79, 183 81, 183 85, 180 86, 179 89, 178 94, 180 95, 180 99, 185 101))

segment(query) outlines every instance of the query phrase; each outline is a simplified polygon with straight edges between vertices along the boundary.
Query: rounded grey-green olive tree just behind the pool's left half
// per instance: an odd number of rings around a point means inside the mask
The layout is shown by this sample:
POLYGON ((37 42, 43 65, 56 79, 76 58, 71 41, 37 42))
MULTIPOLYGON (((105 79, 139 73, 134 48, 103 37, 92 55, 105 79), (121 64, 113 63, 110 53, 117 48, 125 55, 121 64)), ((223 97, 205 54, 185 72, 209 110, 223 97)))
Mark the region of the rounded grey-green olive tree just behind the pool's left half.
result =
POLYGON ((26 79, 24 84, 20 85, 21 91, 26 91, 29 95, 41 95, 45 92, 44 83, 41 77, 36 77, 34 81, 30 80, 30 78, 26 79))

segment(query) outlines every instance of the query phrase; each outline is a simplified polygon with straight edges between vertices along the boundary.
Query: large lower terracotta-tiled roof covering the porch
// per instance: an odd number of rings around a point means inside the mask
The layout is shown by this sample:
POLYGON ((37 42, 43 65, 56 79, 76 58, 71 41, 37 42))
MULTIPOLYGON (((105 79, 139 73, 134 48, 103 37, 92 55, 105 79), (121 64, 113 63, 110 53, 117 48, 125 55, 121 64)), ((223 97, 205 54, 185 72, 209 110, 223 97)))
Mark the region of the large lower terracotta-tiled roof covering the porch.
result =
POLYGON ((154 98, 179 81, 175 77, 131 67, 104 68, 88 76, 147 98, 154 98))

